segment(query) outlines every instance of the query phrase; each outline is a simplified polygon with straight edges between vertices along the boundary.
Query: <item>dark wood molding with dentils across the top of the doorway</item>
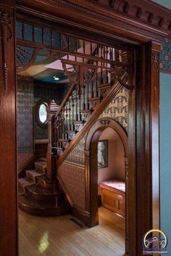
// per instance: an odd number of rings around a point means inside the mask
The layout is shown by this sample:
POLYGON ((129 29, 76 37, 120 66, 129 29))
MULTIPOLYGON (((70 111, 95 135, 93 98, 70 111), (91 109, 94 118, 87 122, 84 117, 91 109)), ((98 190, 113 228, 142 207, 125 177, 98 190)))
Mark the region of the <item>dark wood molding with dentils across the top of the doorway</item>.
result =
POLYGON ((171 10, 150 0, 17 0, 17 10, 137 42, 171 36, 171 10))

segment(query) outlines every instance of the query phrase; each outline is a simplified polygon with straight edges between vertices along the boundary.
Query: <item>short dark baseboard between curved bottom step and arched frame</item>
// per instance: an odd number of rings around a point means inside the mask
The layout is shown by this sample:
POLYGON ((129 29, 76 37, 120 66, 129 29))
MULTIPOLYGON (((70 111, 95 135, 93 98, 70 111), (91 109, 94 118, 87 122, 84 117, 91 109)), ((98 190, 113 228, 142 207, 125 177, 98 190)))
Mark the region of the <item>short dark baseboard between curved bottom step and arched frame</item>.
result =
POLYGON ((74 206, 72 207, 72 215, 75 218, 78 218, 79 220, 81 220, 83 224, 88 226, 88 228, 91 227, 91 215, 90 215, 90 212, 88 212, 87 210, 83 210, 80 207, 74 206))

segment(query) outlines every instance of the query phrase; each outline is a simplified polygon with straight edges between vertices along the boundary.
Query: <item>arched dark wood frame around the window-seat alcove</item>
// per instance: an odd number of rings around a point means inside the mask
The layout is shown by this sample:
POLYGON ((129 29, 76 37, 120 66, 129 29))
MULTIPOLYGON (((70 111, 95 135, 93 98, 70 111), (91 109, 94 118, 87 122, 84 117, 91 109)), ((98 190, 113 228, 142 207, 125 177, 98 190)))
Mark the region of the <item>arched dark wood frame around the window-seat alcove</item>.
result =
POLYGON ((128 254, 128 136, 122 126, 111 118, 101 118, 86 137, 86 209, 90 212, 90 226, 99 224, 97 146, 101 133, 112 128, 122 141, 125 153, 125 253, 128 254))

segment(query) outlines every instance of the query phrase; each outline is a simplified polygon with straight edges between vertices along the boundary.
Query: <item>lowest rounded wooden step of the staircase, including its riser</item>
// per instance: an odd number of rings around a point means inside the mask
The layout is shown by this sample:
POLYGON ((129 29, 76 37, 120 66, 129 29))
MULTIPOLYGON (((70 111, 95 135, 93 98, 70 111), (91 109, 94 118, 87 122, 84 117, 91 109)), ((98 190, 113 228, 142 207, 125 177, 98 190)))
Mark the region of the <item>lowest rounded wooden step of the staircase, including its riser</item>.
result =
POLYGON ((30 199, 30 197, 25 197, 25 195, 20 195, 18 202, 20 209, 31 215, 50 217, 64 215, 70 212, 70 205, 67 202, 64 202, 62 205, 43 205, 30 199))

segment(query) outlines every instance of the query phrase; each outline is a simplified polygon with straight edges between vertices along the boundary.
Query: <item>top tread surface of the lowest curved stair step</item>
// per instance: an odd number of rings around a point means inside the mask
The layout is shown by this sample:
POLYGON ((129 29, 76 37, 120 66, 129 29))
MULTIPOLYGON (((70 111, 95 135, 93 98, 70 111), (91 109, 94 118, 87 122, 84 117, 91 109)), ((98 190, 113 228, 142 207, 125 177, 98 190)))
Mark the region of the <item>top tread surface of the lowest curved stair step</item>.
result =
POLYGON ((54 204, 43 205, 42 203, 40 204, 35 200, 31 200, 30 197, 29 198, 25 197, 25 195, 20 195, 18 199, 19 199, 19 204, 22 204, 26 207, 38 209, 38 210, 43 210, 43 209, 46 210, 46 209, 54 209, 54 208, 57 209, 57 208, 64 208, 69 206, 67 202, 62 203, 62 205, 54 205, 54 204))

